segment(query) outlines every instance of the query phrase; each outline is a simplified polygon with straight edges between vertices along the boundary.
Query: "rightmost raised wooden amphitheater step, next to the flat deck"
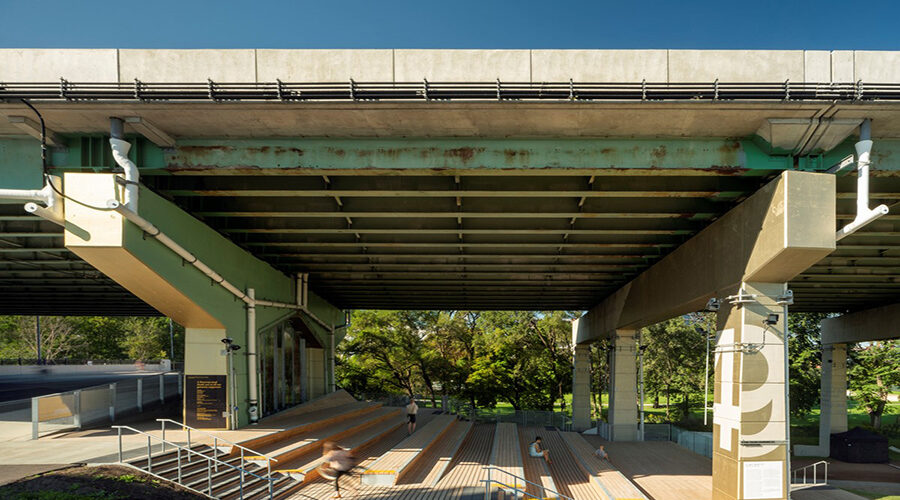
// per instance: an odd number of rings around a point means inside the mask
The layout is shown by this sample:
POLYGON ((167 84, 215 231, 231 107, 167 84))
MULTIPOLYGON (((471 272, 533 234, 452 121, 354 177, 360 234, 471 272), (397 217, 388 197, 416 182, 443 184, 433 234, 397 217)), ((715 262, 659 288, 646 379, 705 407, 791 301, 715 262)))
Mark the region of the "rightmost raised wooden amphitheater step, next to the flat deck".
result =
POLYGON ((577 432, 560 432, 578 466, 590 478, 591 485, 601 499, 609 500, 647 500, 647 497, 619 472, 608 460, 601 460, 594 455, 593 446, 577 432))

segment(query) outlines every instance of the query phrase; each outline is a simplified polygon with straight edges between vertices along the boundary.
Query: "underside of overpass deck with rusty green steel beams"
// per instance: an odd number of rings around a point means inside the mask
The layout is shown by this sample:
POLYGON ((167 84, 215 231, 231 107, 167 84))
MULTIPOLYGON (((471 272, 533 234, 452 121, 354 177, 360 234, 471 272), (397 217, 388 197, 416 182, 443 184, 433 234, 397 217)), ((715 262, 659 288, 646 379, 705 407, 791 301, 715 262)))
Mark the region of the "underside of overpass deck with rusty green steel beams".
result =
MULTIPOLYGON (((822 170, 850 151, 795 165, 731 139, 132 140, 142 183, 277 269, 308 273, 342 308, 588 309, 782 170, 822 170)), ((71 136, 51 171, 107 171, 105 143, 71 136)), ((890 206, 895 144, 880 145, 871 198, 890 206)), ((10 166, 39 164, 37 141, 4 147, 10 166)), ((843 225, 855 177, 837 190, 843 225)), ((790 284, 794 310, 894 300, 898 225, 888 215, 841 240, 790 284)), ((0 205, 0 255, 0 312, 153 312, 20 204, 0 205)))

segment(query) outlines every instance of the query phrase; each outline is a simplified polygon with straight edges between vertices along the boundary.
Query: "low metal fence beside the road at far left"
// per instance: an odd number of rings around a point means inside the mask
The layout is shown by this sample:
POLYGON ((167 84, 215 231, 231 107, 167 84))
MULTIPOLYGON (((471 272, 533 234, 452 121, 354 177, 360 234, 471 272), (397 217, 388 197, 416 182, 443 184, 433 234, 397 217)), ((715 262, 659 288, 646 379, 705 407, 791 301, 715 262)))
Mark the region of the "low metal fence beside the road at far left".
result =
POLYGON ((0 403, 4 436, 37 439, 41 435, 142 412, 182 394, 178 372, 134 377, 110 384, 0 403))

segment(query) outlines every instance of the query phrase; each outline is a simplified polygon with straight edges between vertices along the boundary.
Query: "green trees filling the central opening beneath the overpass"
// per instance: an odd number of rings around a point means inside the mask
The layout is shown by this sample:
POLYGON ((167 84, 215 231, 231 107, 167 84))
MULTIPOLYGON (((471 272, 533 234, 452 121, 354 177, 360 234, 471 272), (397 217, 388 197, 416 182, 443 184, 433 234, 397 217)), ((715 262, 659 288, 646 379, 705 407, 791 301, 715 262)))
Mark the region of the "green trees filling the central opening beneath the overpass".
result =
POLYGON ((337 377, 361 393, 443 393, 493 407, 565 408, 573 313, 356 311, 337 377))

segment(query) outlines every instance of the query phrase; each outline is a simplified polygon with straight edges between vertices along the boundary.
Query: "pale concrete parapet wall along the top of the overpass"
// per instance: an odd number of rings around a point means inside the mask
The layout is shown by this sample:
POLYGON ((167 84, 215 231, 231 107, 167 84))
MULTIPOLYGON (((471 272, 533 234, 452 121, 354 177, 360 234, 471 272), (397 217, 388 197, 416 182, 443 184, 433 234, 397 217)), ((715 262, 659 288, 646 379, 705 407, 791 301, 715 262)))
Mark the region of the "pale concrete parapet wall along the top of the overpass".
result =
POLYGON ((900 82, 900 51, 0 49, 0 81, 900 82))

